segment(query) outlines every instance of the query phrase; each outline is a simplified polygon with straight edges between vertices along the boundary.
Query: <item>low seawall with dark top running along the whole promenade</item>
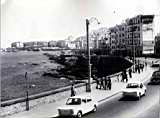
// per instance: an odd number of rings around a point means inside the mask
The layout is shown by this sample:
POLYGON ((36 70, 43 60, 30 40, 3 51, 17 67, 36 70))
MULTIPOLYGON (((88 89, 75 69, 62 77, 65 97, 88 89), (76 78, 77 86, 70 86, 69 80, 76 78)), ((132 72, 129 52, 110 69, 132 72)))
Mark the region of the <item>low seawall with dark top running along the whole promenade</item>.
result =
MULTIPOLYGON (((113 80, 116 81, 117 79, 119 79, 121 73, 122 72, 110 75, 112 81, 113 80)), ((93 82, 92 84, 94 83, 95 82, 93 82)), ((78 84, 75 87, 76 87, 77 94, 80 94, 86 91, 85 83, 78 84)), ((69 96, 70 96, 70 86, 67 86, 67 87, 56 89, 53 91, 47 91, 41 94, 29 96, 29 106, 30 106, 30 109, 32 109, 43 104, 53 103, 53 102, 68 98, 69 96)), ((7 115, 24 111, 26 109, 25 100, 26 100, 25 98, 19 98, 19 99, 2 102, 0 116, 4 117, 7 115)))

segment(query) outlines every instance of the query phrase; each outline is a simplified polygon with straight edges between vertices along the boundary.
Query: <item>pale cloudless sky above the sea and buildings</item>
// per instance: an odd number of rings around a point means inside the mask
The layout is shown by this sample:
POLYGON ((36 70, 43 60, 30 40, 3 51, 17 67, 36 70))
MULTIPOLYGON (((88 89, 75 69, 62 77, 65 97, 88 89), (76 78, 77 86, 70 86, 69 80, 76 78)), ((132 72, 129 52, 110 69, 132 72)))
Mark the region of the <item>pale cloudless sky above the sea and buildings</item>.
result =
MULTIPOLYGON (((1 0, 1 47, 12 42, 63 40, 85 35, 85 19, 111 27, 139 14, 160 18, 160 0, 1 0)), ((159 20, 160 21, 160 20, 159 20)), ((160 32, 160 23, 154 26, 160 32)))

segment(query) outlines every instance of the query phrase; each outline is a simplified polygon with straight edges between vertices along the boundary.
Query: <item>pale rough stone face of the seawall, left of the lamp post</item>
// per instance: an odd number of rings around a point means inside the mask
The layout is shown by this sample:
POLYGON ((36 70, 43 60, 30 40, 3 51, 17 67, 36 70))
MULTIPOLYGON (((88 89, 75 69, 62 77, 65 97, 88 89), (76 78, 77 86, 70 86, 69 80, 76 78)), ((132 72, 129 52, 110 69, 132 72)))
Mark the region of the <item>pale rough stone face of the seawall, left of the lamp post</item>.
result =
MULTIPOLYGON (((76 85, 75 87, 76 87, 77 94, 80 94, 80 93, 86 91, 86 86, 84 83, 76 85)), ((39 94, 39 96, 43 96, 42 94, 39 94)), ((70 86, 59 89, 58 92, 56 92, 55 94, 46 95, 46 93, 45 93, 44 96, 40 97, 40 98, 36 98, 35 96, 30 96, 30 99, 35 98, 35 99, 32 99, 29 101, 30 109, 36 108, 36 107, 43 105, 43 104, 53 103, 53 102, 56 102, 56 101, 59 101, 59 100, 62 100, 64 98, 68 98, 68 97, 70 97, 70 86)), ((18 102, 18 101, 16 101, 16 102, 18 102)), ((7 115, 15 114, 15 113, 24 111, 25 109, 26 109, 25 102, 19 102, 16 104, 11 103, 10 105, 6 105, 4 107, 1 107, 0 116, 4 117, 7 115)))

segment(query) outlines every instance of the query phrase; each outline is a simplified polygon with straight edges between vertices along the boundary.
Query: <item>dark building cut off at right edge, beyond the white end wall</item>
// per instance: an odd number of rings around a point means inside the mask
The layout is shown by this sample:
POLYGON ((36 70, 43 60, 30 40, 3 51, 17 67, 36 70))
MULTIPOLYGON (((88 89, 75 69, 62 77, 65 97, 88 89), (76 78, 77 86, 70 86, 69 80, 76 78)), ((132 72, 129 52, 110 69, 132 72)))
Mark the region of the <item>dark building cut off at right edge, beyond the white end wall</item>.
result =
POLYGON ((154 45, 155 55, 160 56, 160 33, 155 36, 155 45, 154 45))

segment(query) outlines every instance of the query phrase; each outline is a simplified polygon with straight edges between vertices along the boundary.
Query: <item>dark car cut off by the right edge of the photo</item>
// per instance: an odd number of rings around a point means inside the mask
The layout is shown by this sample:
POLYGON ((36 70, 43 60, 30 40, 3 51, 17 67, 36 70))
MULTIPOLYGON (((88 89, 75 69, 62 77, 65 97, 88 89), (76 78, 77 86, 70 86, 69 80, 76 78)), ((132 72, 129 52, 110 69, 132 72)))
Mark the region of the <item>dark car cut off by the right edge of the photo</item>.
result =
POLYGON ((150 79, 149 85, 160 85, 160 70, 155 71, 152 74, 152 77, 150 79))

